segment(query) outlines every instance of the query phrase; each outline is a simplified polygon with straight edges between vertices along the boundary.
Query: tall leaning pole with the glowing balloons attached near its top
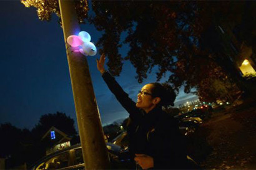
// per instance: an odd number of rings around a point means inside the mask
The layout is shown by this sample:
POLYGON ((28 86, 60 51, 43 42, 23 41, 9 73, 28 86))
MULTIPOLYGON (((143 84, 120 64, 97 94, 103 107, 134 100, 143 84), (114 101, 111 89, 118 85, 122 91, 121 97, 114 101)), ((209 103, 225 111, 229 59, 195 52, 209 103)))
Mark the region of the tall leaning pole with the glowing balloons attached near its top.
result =
POLYGON ((74 52, 66 43, 69 35, 77 35, 80 31, 74 1, 59 0, 59 8, 84 165, 86 169, 109 169, 109 155, 86 57, 80 52, 74 52))

